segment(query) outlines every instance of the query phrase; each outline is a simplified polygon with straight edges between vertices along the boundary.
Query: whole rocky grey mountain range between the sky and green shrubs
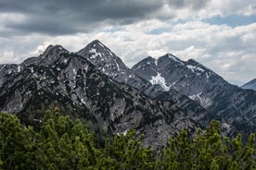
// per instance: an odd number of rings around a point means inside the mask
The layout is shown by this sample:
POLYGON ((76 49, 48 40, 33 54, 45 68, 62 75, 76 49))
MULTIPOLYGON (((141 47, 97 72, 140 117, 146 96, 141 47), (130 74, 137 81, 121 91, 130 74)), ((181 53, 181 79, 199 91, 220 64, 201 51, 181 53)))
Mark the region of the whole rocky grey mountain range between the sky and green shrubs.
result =
POLYGON ((108 134, 136 129, 153 148, 183 128, 193 134, 211 119, 229 137, 256 131, 256 91, 171 54, 149 56, 129 68, 97 40, 76 53, 49 45, 19 65, 0 65, 1 112, 40 124, 45 110, 55 106, 108 134))

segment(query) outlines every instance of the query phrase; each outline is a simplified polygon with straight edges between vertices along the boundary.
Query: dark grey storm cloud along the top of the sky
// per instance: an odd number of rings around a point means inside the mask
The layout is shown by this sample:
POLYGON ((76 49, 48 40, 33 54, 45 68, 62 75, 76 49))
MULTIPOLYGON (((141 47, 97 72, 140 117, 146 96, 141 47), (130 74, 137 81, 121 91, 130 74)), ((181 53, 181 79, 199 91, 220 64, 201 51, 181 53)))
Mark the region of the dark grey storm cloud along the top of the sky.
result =
MULTIPOLYGON (((50 35, 90 31, 103 24, 123 25, 152 18, 162 6, 195 8, 205 0, 186 3, 186 0, 1 0, 1 13, 15 13, 23 20, 6 21, 6 30, 20 34, 45 33, 50 35)), ((172 18, 173 16, 170 16, 172 18)), ((158 16, 154 16, 158 18, 158 16)))

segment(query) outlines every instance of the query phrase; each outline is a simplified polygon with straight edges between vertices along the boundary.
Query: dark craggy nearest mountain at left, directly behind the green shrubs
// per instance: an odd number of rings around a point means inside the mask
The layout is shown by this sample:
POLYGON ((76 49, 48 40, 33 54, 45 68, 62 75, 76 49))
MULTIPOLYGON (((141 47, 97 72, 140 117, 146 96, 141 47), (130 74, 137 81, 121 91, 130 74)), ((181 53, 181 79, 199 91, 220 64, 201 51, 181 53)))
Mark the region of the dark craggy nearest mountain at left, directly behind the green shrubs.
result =
POLYGON ((26 121, 40 122, 46 109, 59 106, 66 115, 93 122, 109 134, 136 129, 145 134, 144 145, 153 148, 183 128, 193 133, 200 126, 172 99, 151 99, 109 79, 86 58, 60 45, 50 45, 44 54, 20 65, 1 68, 1 74, 10 74, 1 77, 0 111, 26 121))

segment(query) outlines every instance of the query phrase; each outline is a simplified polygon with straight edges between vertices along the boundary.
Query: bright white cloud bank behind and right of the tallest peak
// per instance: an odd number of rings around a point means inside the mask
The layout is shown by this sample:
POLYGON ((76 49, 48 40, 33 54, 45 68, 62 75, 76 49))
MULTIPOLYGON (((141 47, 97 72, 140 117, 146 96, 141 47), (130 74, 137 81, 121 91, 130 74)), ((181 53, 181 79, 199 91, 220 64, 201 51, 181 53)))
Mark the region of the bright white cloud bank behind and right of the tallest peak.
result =
MULTIPOLYGON (((256 23, 236 28, 211 25, 201 21, 180 24, 159 24, 169 32, 148 34, 155 21, 125 27, 116 32, 98 32, 90 40, 99 39, 132 67, 139 60, 151 55, 155 58, 172 53, 183 60, 197 59, 206 67, 231 83, 242 84, 256 77, 255 41, 256 23), (127 37, 131 41, 126 42, 127 37), (138 38, 139 37, 139 38, 138 38)), ((160 22, 160 21, 159 21, 160 22)))

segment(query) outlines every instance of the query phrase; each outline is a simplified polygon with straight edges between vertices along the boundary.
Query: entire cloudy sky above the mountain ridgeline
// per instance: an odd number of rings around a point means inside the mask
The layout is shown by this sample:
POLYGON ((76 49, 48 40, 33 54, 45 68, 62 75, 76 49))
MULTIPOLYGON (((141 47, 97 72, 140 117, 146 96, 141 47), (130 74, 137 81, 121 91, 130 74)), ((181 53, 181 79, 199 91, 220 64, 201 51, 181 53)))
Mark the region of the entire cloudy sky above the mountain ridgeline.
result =
POLYGON ((171 53, 237 85, 256 78, 255 0, 0 0, 0 64, 95 39, 128 67, 171 53))

